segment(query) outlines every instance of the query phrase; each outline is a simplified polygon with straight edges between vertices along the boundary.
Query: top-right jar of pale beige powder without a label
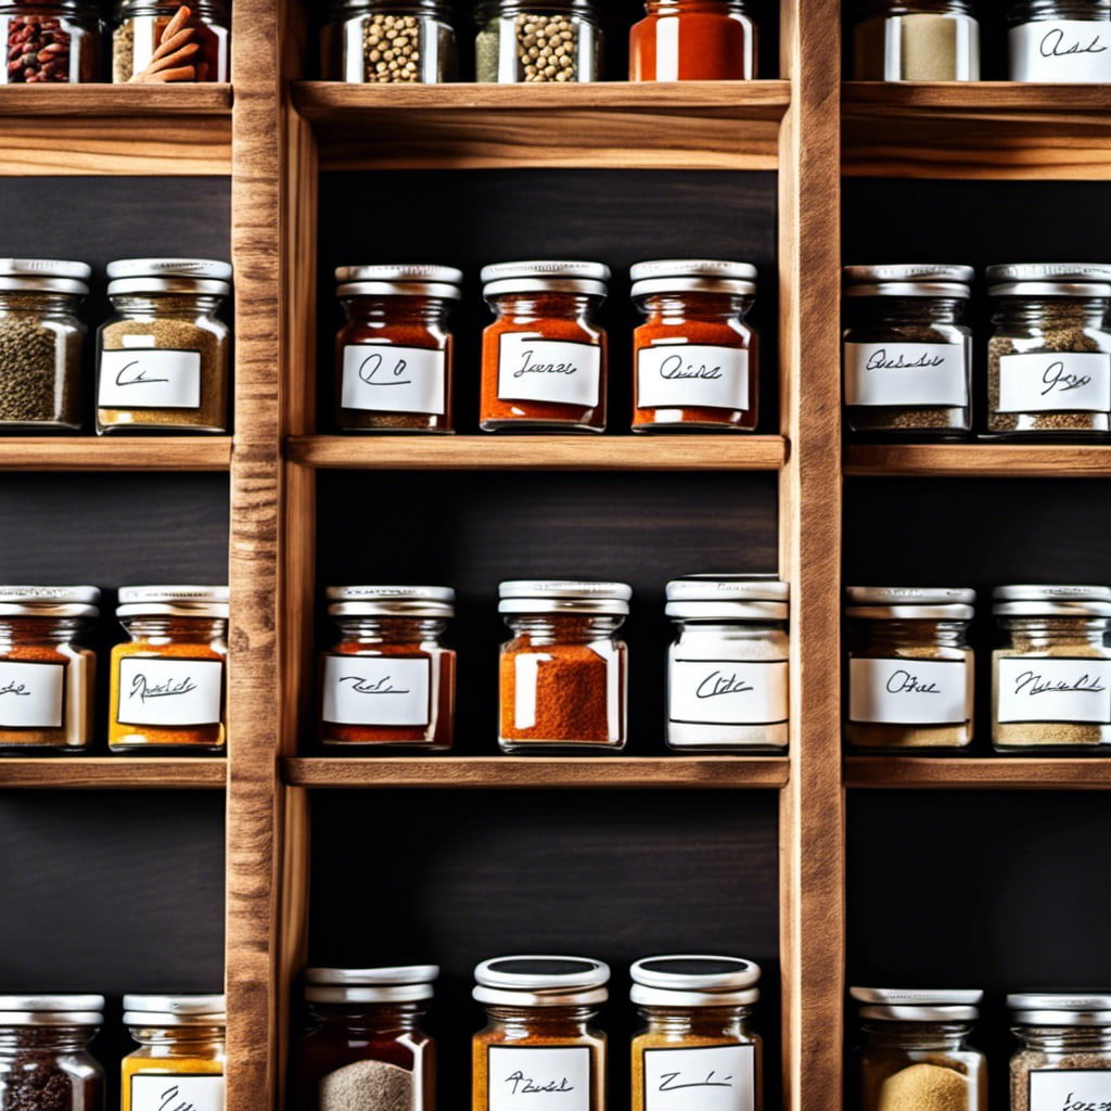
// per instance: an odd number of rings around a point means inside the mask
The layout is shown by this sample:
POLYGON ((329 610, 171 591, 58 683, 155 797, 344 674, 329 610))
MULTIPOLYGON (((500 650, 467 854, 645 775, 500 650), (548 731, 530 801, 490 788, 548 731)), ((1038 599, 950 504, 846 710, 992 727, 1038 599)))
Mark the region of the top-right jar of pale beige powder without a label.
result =
POLYGON ((852 59, 855 81, 979 81, 980 24, 969 0, 864 0, 852 59))

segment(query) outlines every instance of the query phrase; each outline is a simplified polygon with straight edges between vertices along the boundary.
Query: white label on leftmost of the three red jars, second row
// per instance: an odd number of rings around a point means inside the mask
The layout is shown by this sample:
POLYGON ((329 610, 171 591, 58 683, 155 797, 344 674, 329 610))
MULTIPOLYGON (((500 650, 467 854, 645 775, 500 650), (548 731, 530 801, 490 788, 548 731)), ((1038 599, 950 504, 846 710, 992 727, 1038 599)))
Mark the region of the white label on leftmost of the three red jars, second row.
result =
POLYGON ((426 348, 360 343, 343 348, 340 407, 390 413, 438 413, 444 408, 448 356, 426 348))

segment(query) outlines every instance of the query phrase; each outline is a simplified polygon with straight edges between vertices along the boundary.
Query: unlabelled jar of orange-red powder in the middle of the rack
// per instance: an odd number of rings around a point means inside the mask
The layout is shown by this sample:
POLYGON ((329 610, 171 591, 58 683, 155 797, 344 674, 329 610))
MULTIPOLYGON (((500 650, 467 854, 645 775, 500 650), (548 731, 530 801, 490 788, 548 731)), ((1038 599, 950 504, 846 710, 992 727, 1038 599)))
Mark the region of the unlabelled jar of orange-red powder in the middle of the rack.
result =
POLYGON ((501 750, 624 748, 628 649, 615 633, 632 590, 557 579, 503 582, 499 591, 513 631, 501 647, 501 750))

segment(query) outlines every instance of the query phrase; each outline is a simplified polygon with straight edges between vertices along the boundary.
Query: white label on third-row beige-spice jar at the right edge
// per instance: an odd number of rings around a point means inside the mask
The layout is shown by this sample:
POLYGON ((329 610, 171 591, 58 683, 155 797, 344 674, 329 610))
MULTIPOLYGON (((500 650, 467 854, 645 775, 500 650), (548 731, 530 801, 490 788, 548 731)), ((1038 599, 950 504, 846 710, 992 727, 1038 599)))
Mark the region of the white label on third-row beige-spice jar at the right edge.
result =
POLYGON ((1111 725, 1111 660, 1000 658, 995 720, 1111 725))

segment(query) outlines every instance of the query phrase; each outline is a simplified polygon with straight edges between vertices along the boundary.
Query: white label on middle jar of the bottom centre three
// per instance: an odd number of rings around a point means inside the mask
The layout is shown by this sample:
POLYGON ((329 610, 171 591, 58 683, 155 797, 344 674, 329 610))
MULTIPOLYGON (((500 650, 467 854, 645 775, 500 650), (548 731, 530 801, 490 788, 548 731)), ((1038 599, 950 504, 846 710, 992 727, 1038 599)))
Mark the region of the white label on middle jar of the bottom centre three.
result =
POLYGON ((590 1111, 591 1054, 587 1045, 487 1049, 490 1111, 590 1111))

